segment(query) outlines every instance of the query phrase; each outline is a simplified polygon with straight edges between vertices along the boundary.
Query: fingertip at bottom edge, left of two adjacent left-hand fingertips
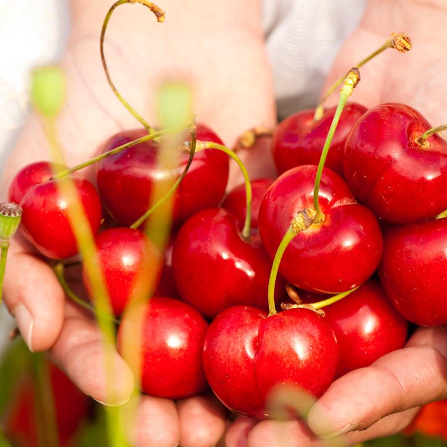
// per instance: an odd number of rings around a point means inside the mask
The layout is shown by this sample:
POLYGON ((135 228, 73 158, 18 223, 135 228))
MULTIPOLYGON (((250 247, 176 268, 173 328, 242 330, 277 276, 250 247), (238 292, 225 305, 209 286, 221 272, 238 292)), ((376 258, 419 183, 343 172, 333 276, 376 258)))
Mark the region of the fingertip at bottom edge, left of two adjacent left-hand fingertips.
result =
POLYGON ((176 446, 180 423, 174 401, 142 395, 134 433, 135 447, 176 446))

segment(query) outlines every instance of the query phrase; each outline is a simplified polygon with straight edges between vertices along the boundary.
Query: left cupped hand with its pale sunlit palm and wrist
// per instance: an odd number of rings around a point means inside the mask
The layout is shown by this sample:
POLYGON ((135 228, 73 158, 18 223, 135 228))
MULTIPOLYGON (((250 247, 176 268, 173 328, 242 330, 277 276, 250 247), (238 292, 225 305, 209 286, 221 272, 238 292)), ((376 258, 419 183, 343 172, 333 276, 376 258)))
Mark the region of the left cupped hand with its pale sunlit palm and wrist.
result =
MULTIPOLYGON (((58 120, 70 166, 90 158, 111 135, 139 125, 114 97, 102 70, 99 33, 110 4, 91 1, 71 6, 72 35, 62 63, 67 98, 58 120)), ((123 96, 156 124, 152 107, 156 86, 163 77, 180 75, 192 84, 197 120, 212 127, 228 145, 248 128, 271 127, 274 98, 259 5, 245 1, 225 8, 208 2, 198 8, 193 1, 170 1, 166 6, 162 25, 139 5, 122 6, 111 19, 105 52, 123 96)), ((22 166, 48 158, 45 134, 33 115, 5 165, 3 196, 22 166)), ((93 170, 82 174, 91 178, 93 170)), ((20 237, 9 249, 3 290, 5 304, 30 349, 50 350, 55 363, 94 399, 108 405, 129 399, 134 379, 128 365, 113 346, 104 344, 93 318, 66 300, 50 266, 20 237), (114 359, 112 379, 104 370, 104 350, 114 359)), ((137 427, 131 436, 137 446, 171 447, 178 442, 185 447, 211 446, 224 432, 224 410, 210 396, 178 402, 143 396, 137 427)))

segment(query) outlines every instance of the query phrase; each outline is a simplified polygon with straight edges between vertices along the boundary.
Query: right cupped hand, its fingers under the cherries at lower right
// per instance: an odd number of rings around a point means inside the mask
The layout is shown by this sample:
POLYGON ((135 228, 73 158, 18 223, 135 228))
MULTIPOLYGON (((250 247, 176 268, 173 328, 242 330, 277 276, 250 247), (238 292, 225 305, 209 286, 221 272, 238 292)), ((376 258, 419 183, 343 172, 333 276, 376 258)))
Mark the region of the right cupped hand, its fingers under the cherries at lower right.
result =
MULTIPOLYGON (((378 48, 390 32, 403 31, 412 39, 411 52, 398 55, 389 50, 369 62, 361 69, 362 81, 352 101, 368 107, 403 102, 433 126, 444 124, 447 33, 443 8, 441 1, 412 1, 405 8, 399 2, 370 2, 358 29, 336 58, 323 92, 370 48, 378 48), (429 34, 428 30, 434 31, 429 34)), ((336 91, 328 103, 336 103, 337 96, 336 91)), ((302 421, 256 423, 238 418, 227 433, 227 445, 316 447, 331 445, 320 437, 347 433, 331 440, 339 446, 399 432, 421 405, 447 397, 446 335, 446 327, 419 328, 404 349, 339 378, 310 409, 308 426, 302 421)))

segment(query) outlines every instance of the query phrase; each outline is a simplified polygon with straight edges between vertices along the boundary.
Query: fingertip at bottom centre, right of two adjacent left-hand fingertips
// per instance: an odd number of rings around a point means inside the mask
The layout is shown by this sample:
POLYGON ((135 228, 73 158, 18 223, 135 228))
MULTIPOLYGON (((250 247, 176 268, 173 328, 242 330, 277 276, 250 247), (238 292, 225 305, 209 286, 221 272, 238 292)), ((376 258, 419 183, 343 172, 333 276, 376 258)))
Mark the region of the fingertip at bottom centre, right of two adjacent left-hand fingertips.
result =
POLYGON ((195 396, 177 402, 180 419, 180 446, 210 447, 225 431, 225 410, 211 395, 195 396))

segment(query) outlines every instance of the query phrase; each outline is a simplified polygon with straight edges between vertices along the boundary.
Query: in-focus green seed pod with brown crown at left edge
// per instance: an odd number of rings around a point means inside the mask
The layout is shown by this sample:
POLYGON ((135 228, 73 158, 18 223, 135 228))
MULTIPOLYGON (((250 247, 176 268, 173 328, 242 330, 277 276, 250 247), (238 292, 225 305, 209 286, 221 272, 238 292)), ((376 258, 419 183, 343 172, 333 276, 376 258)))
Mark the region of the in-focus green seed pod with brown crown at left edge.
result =
POLYGON ((6 258, 9 249, 9 240, 17 231, 22 216, 22 207, 16 203, 0 203, 0 304, 3 291, 4 272, 6 270, 6 258))

